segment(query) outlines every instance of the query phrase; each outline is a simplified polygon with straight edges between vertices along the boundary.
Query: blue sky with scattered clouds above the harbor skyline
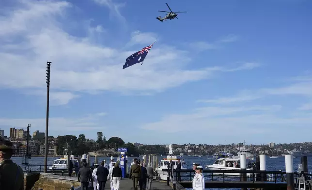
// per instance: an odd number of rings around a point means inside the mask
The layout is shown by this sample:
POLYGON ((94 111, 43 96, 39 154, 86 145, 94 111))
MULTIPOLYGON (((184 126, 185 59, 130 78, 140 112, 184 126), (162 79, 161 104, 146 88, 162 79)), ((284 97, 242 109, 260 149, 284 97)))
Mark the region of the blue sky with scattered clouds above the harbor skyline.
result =
POLYGON ((311 141, 312 1, 1 0, 0 128, 144 144, 311 141), (159 22, 166 4, 179 19, 159 22), (125 59, 157 42, 140 63, 125 59))

